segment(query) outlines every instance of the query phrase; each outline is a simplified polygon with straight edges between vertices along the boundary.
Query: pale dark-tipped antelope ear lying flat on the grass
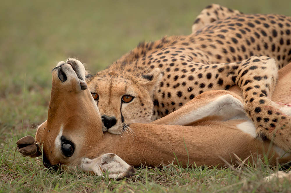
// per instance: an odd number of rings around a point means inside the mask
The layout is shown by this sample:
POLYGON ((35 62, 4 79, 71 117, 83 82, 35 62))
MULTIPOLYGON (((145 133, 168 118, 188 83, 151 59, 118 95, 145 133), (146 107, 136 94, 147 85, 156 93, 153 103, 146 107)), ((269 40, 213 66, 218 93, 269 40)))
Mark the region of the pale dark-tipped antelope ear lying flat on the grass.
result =
POLYGON ((135 174, 133 167, 113 153, 106 153, 92 160, 83 158, 80 167, 83 171, 93 171, 98 176, 108 172, 109 178, 114 179, 130 178, 135 174))

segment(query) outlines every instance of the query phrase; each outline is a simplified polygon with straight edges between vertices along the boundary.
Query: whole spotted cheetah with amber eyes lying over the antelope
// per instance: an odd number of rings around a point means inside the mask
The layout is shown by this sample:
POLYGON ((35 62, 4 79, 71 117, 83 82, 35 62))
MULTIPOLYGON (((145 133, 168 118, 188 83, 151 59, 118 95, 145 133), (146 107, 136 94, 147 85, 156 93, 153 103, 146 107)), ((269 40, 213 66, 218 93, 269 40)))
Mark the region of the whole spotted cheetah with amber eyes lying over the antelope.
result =
POLYGON ((120 134, 132 123, 149 123, 178 110, 205 91, 238 85, 246 93, 247 116, 257 136, 276 136, 274 143, 288 150, 290 117, 270 96, 277 70, 291 61, 290 25, 288 16, 248 15, 212 4, 195 20, 191 35, 140 43, 87 77, 102 130, 120 134), (284 135, 276 135, 278 126, 284 135))

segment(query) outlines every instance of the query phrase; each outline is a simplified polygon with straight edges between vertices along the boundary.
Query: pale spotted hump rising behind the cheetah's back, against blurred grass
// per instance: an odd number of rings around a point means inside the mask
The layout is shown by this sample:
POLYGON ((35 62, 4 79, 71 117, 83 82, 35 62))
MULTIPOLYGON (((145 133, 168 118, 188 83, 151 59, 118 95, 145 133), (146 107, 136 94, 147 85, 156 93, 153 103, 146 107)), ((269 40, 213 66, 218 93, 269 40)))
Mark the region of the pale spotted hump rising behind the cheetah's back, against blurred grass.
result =
POLYGON ((241 14, 242 12, 238 10, 232 10, 218 4, 210 4, 196 17, 194 24, 192 25, 192 34, 219 19, 225 19, 227 17, 241 14))

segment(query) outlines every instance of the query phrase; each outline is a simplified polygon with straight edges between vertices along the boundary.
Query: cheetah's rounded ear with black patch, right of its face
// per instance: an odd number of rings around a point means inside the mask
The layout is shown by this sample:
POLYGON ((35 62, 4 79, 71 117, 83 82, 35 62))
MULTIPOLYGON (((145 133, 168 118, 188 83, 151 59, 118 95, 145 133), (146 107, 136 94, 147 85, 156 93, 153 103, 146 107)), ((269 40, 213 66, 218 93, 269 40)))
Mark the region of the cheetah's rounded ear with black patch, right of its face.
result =
POLYGON ((146 87, 150 94, 156 89, 158 83, 161 81, 163 74, 159 68, 153 69, 152 72, 142 75, 139 83, 146 87))

